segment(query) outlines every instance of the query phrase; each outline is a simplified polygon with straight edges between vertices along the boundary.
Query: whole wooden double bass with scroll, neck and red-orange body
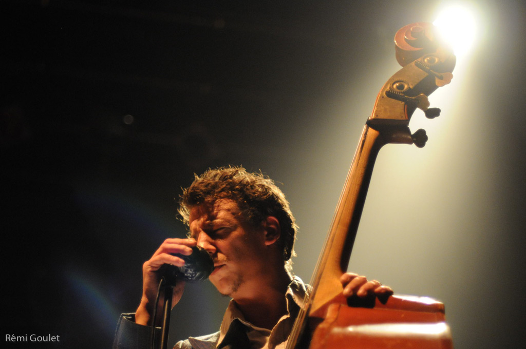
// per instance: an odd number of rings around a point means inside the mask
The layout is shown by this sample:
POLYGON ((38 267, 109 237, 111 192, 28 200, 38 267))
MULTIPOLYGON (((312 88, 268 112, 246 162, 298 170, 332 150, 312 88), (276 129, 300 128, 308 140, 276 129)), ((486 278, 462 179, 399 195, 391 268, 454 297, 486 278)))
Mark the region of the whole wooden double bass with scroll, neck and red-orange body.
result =
POLYGON ((331 228, 311 279, 312 292, 300 310, 287 348, 452 348, 444 305, 428 297, 393 295, 359 301, 342 295, 339 278, 347 271, 376 157, 389 143, 423 147, 424 130, 411 133, 416 109, 434 118, 428 96, 452 78, 456 57, 429 23, 402 27, 395 35, 402 68, 380 89, 363 128, 331 228))

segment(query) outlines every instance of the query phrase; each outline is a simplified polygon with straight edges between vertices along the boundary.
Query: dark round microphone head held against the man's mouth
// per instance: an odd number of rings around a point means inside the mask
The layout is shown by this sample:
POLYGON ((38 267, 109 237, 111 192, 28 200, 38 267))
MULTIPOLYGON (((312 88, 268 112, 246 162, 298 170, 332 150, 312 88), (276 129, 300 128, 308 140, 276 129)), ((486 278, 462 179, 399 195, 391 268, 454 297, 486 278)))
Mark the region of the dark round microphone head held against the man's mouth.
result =
POLYGON ((198 282, 208 279, 214 271, 214 260, 203 248, 194 246, 190 255, 173 253, 173 255, 185 261, 183 266, 165 264, 161 267, 160 273, 167 282, 174 283, 175 280, 198 282), (164 269, 164 270, 162 270, 164 269))

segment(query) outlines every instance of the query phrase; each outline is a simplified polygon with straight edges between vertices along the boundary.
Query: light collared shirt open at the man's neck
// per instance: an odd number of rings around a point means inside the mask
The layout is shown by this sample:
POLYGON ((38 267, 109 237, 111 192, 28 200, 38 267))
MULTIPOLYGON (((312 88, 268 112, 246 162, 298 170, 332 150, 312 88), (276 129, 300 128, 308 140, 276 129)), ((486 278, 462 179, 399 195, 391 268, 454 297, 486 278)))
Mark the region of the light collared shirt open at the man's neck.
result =
MULTIPOLYGON (((233 323, 239 322, 242 324, 241 327, 245 328, 250 342, 250 349, 284 349, 296 316, 307 301, 306 298, 309 292, 310 286, 305 285, 298 276, 294 276, 285 293, 287 314, 281 316, 281 319, 279 319, 272 330, 262 329, 246 321, 236 302, 231 300, 221 322, 217 347, 229 344, 227 343, 227 333, 231 330, 230 327, 233 323)), ((237 325, 236 327, 239 326, 237 325)))

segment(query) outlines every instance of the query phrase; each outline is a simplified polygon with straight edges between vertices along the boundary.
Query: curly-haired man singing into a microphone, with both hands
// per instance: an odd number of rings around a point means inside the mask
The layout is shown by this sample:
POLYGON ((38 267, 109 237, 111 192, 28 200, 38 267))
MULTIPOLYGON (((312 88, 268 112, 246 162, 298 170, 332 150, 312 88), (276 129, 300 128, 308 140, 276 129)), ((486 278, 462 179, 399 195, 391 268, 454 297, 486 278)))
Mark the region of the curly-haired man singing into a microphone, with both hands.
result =
MULTIPOLYGON (((173 254, 204 248, 214 260, 209 280, 232 300, 219 332, 176 344, 176 348, 285 348, 300 307, 310 291, 292 274, 297 226, 284 194, 269 178, 244 168, 211 169, 196 176, 180 198, 179 213, 189 226, 187 239, 167 239, 143 265, 143 297, 135 315, 119 320, 115 348, 147 347, 159 269, 184 265, 173 254)), ((345 273, 346 296, 392 294, 378 281, 345 273)), ((174 290, 173 305, 184 282, 174 290)), ((157 312, 158 314, 160 311, 157 312)), ((172 317, 177 321, 177 315, 172 317)))

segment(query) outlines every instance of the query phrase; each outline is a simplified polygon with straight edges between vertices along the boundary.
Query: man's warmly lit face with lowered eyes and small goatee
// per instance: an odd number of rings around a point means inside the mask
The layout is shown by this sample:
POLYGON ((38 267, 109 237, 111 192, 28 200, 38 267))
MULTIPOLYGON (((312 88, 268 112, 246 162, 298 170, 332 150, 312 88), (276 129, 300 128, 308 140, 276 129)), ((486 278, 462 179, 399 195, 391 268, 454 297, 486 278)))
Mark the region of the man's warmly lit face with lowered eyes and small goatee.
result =
POLYGON ((230 199, 193 207, 189 224, 191 238, 213 256, 209 279, 217 290, 234 298, 257 292, 266 264, 265 230, 246 222, 230 199))

